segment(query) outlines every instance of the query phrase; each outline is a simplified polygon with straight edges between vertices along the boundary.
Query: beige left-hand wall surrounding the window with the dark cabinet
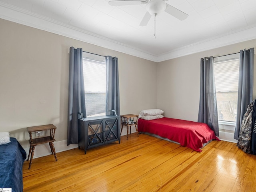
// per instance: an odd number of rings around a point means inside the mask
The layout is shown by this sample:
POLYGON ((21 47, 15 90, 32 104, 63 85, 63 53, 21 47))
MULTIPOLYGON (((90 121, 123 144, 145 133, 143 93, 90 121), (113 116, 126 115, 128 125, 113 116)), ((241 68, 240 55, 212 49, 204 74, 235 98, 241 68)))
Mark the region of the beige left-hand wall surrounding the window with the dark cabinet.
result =
POLYGON ((118 57, 121 114, 156 108, 155 62, 2 19, 0 26, 0 131, 24 148, 28 126, 54 124, 56 141, 67 139, 70 46, 118 57))

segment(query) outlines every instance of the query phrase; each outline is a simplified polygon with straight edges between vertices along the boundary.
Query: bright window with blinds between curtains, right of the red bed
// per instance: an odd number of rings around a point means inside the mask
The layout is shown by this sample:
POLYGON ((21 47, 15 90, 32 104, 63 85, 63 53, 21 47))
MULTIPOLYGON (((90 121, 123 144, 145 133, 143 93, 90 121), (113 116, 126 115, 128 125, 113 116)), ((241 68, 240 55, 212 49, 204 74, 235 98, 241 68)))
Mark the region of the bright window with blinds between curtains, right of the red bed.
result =
POLYGON ((219 122, 236 122, 239 54, 214 58, 214 77, 219 122))

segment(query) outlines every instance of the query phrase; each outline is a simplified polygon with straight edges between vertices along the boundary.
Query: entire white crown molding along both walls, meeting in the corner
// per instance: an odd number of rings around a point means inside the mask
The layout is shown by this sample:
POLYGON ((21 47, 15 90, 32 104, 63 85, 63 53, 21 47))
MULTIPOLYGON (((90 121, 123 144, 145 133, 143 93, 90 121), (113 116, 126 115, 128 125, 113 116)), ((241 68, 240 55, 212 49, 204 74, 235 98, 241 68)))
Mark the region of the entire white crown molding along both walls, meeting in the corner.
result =
POLYGON ((94 44, 96 46, 104 47, 114 51, 150 60, 153 62, 162 62, 165 60, 170 60, 173 58, 178 58, 181 56, 186 56, 189 54, 194 54, 197 52, 202 52, 205 50, 210 50, 256 38, 256 26, 254 26, 224 36, 206 39, 196 44, 184 46, 182 48, 171 50, 168 53, 156 56, 147 53, 143 50, 138 50, 135 47, 127 46, 125 44, 115 42, 108 38, 88 33, 79 28, 69 26, 67 24, 58 22, 56 20, 52 20, 44 16, 40 16, 28 10, 11 6, 10 4, 6 4, 3 2, 0 2, 0 18, 4 20, 9 20, 11 22, 16 22, 18 24, 23 24, 26 26, 44 30, 47 32, 51 32, 54 34, 66 36, 68 38, 80 40, 82 42, 94 44))

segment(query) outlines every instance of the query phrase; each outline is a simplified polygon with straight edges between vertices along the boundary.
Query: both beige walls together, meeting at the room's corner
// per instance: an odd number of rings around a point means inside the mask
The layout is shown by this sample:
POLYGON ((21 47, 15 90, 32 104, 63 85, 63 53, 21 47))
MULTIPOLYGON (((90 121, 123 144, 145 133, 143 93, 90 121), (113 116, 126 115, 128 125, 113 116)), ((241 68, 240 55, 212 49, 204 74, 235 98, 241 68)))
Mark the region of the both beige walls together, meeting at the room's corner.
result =
MULTIPOLYGON (((200 58, 256 44, 256 40, 241 42, 156 64, 2 19, 0 26, 0 131, 10 132, 24 148, 28 126, 52 123, 58 127, 56 142, 67 138, 70 46, 118 57, 121 114, 160 108, 166 117, 197 121, 200 58)), ((255 81, 256 75, 254 87, 255 81)))

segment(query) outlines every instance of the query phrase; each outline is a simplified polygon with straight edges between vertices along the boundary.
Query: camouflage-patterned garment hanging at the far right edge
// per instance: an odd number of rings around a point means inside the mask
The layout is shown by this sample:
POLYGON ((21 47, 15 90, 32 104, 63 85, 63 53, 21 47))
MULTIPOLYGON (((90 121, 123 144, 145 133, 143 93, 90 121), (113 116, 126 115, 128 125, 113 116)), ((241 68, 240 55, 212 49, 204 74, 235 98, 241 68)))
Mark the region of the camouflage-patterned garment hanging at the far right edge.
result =
POLYGON ((253 100, 247 107, 247 111, 243 116, 240 127, 240 134, 238 136, 237 146, 246 153, 252 153, 251 139, 252 139, 252 112, 255 100, 253 100))

